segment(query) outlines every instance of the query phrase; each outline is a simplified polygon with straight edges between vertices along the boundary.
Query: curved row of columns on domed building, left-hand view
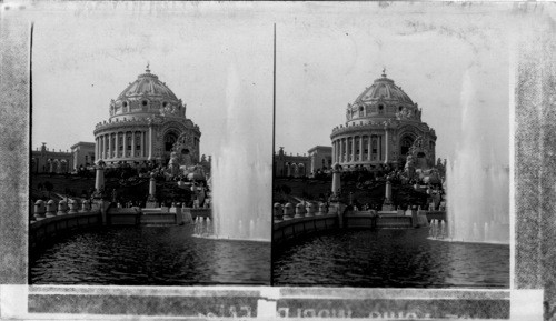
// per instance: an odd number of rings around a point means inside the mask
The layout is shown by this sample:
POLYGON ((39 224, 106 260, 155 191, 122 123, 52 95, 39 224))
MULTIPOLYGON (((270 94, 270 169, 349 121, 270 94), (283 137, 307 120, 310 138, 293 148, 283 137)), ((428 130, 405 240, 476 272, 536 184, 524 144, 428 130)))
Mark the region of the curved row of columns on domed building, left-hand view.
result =
POLYGON ((98 134, 95 139, 97 159, 152 158, 152 130, 128 130, 98 134))

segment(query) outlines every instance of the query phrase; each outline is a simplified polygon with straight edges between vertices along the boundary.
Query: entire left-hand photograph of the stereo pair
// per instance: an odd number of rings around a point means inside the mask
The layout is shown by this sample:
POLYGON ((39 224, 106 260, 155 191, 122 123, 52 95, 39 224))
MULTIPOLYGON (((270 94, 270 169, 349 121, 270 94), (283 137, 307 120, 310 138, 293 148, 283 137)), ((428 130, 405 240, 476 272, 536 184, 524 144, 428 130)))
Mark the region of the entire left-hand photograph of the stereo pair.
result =
POLYGON ((210 4, 33 21, 30 284, 269 284, 272 24, 210 4))

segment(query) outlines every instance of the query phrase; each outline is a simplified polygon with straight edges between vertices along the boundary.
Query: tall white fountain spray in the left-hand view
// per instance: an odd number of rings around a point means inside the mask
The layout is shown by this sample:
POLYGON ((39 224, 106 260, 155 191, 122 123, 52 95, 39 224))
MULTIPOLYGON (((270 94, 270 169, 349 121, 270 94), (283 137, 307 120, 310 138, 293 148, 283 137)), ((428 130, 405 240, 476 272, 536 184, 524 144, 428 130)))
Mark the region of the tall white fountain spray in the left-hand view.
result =
POLYGON ((219 154, 212 158, 211 238, 270 241, 271 234, 271 153, 261 111, 238 103, 239 78, 228 72, 227 124, 219 154), (255 128, 259 126, 261 130, 255 128))

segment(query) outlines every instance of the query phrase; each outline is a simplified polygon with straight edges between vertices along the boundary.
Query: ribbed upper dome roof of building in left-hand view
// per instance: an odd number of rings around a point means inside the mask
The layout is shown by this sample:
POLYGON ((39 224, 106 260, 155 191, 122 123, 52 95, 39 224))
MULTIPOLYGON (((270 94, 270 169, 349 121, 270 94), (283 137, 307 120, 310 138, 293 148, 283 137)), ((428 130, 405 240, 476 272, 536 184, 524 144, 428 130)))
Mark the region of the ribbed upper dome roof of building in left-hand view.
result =
POLYGON ((126 98, 137 96, 155 96, 168 98, 169 100, 178 100, 176 94, 166 86, 166 83, 158 80, 158 76, 150 73, 147 67, 146 73, 139 74, 136 81, 131 82, 121 93, 117 100, 125 100, 126 98))

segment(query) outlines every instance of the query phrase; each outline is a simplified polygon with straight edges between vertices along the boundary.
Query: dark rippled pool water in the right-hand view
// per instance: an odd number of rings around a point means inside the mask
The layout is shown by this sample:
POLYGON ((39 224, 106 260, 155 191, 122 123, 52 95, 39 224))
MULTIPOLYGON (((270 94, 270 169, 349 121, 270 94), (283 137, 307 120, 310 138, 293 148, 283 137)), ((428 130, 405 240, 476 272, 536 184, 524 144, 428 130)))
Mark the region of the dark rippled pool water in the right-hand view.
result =
POLYGON ((274 284, 508 288, 509 247, 427 240, 427 229, 324 232, 274 251, 274 284))

